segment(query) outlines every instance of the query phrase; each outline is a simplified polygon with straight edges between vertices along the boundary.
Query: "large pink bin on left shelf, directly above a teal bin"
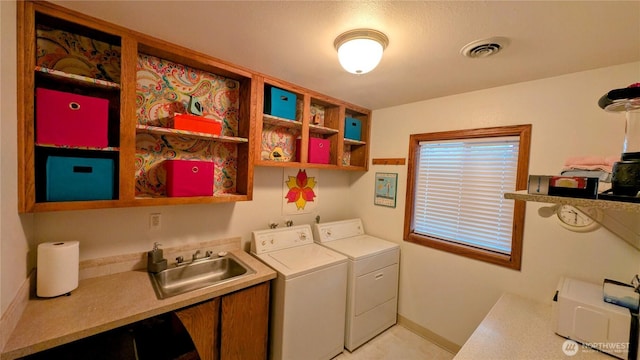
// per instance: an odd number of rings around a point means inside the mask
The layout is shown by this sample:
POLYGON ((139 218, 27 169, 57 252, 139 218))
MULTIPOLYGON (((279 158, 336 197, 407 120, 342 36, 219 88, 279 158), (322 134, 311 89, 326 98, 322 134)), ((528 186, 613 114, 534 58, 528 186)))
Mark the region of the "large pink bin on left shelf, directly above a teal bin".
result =
POLYGON ((36 89, 36 142, 107 147, 109 100, 36 89))

